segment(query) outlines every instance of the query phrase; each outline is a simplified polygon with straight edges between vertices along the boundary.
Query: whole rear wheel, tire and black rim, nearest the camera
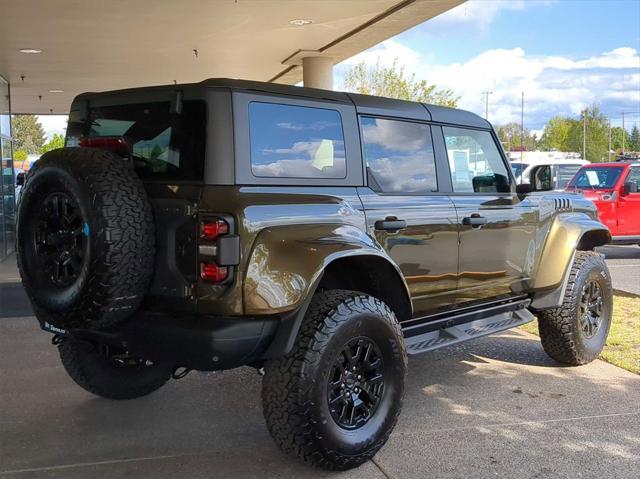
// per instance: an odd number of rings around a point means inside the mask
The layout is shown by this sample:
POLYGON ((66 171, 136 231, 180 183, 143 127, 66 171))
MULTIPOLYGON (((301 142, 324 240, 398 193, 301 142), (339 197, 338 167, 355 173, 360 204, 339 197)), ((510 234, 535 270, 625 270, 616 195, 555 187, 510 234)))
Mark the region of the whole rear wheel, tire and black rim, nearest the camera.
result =
POLYGON ((317 294, 293 350, 265 365, 264 416, 287 453, 357 467, 385 444, 402 407, 407 357, 389 307, 363 293, 317 294))

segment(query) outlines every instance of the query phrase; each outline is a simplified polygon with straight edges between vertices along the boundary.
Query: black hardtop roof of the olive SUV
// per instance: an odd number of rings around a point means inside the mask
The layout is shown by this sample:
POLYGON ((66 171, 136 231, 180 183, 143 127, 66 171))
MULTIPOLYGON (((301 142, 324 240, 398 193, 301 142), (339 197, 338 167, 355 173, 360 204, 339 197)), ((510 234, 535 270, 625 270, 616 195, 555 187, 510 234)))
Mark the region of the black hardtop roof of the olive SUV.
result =
MULTIPOLYGON (((358 113, 382 115, 389 117, 409 118, 416 120, 433 121, 461 126, 477 128, 491 128, 490 123, 484 118, 466 110, 447 108, 443 106, 417 103, 393 98, 383 98, 370 95, 360 95, 317 88, 283 85, 280 83, 268 83, 251 80, 238 80, 232 78, 209 78, 200 83, 186 83, 176 85, 164 85, 155 87, 129 88, 125 90, 113 90, 101 93, 82 93, 76 100, 89 99, 90 97, 135 94, 137 91, 182 89, 182 88, 228 88, 236 91, 270 93, 282 96, 295 96, 317 100, 329 100, 342 104, 355 105, 358 113)), ((74 100, 75 101, 75 100, 74 100)))

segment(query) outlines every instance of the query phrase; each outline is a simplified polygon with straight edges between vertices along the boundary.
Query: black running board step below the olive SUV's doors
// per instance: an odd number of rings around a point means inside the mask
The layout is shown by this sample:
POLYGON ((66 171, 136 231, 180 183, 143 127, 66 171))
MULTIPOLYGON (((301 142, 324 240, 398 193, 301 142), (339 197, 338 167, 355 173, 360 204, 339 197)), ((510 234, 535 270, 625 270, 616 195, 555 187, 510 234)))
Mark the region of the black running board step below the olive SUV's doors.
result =
POLYGON ((417 336, 405 337, 407 354, 421 354, 427 351, 451 346, 462 341, 488 336, 526 324, 534 319, 528 309, 508 311, 464 324, 429 331, 417 336))

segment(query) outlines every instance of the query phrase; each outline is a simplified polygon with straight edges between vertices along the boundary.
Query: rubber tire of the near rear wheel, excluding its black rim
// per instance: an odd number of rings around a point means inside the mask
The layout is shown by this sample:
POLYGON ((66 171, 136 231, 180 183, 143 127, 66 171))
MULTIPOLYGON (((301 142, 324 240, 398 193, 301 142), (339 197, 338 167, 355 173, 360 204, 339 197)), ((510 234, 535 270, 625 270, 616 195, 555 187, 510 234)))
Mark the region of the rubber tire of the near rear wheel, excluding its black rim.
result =
POLYGON ((402 331, 385 303, 354 291, 320 292, 292 351, 265 365, 262 401, 269 432, 282 450, 314 466, 357 467, 389 438, 402 407, 406 369, 402 331), (343 348, 362 337, 380 348, 384 389, 369 419, 347 430, 329 410, 329 372, 343 348))

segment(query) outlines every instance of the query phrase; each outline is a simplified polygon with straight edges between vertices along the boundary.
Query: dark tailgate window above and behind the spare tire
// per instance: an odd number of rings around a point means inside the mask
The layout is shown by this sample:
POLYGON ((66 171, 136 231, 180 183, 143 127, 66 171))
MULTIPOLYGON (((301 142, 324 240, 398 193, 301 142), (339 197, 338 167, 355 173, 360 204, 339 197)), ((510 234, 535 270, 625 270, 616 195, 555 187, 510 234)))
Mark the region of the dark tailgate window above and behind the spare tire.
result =
POLYGON ((169 102, 152 102, 90 107, 87 118, 72 112, 67 146, 77 146, 82 137, 122 136, 140 178, 202 180, 206 105, 185 101, 180 114, 170 108, 169 102))

